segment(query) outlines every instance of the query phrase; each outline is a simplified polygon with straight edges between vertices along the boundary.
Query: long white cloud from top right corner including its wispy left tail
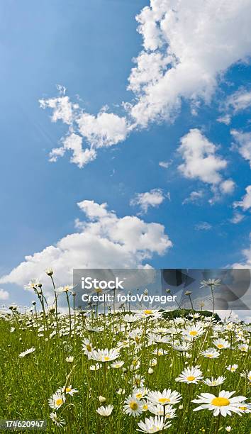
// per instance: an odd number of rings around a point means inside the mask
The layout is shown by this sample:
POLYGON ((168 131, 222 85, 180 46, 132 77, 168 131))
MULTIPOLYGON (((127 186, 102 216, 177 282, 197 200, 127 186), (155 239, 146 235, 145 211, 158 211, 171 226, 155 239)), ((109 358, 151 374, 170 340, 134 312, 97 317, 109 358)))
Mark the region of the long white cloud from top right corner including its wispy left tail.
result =
MULTIPOLYGON (((83 167, 96 158, 97 148, 118 144, 134 128, 172 121, 183 100, 197 113, 201 101, 210 101, 223 73, 251 54, 250 14, 250 0, 150 0, 136 16, 143 50, 133 60, 128 89, 134 98, 121 105, 123 115, 108 113, 107 107, 97 115, 86 113, 63 87, 60 96, 40 100, 43 109, 52 111, 52 121, 69 126, 68 135, 82 136, 82 143, 75 137, 77 143, 68 143, 74 152, 71 161, 83 167)), ((246 92, 235 94, 228 104, 236 111, 249 101, 246 92)), ((50 160, 64 155, 65 149, 52 150, 50 160)))

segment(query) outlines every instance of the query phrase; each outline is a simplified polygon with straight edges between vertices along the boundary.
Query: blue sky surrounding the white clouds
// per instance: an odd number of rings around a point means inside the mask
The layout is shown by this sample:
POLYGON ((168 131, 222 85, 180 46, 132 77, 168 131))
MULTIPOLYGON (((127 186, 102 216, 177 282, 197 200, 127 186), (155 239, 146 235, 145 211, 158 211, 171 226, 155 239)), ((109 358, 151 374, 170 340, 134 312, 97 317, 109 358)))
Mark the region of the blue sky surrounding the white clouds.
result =
MULTIPOLYGON (((211 3, 208 0, 208 8, 211 3)), ((135 67, 132 58, 143 50, 144 33, 137 32, 135 16, 149 4, 146 0, 1 2, 1 276, 11 273, 26 255, 76 233, 75 219, 85 221, 89 215, 88 211, 84 216, 77 206, 82 201, 107 203, 118 219, 138 216, 140 221, 163 226, 172 247, 161 255, 159 247, 149 247, 150 257, 135 266, 147 262, 158 268, 216 268, 248 261, 242 250, 250 248, 250 208, 234 208, 233 204, 242 200, 250 184, 250 164, 240 154, 240 143, 231 130, 250 132, 251 104, 244 109, 224 106, 236 92, 247 95, 250 91, 248 46, 240 50, 245 61, 227 59, 224 67, 213 69, 214 90, 207 89, 208 101, 202 91, 196 96, 196 113, 191 113, 194 99, 184 91, 178 95, 181 106, 174 104, 172 121, 157 113, 145 126, 138 122, 124 140, 100 147, 96 159, 82 168, 69 162, 69 152, 49 162, 52 148, 69 135, 69 125, 53 123, 52 111, 39 104, 40 99, 59 96, 57 84, 67 89, 70 101, 92 116, 108 105, 110 113, 131 119, 121 103, 135 104, 135 93, 126 90, 135 67), (227 112, 230 123, 217 121, 227 112), (235 183, 230 194, 218 194, 213 204, 208 202, 213 197, 211 187, 219 189, 220 183, 204 182, 196 175, 186 177, 179 169, 184 163, 184 154, 178 151, 180 140, 195 128, 216 145, 215 154, 228 162, 219 171, 222 180, 235 183), (165 168, 160 162, 171 163, 165 168), (160 206, 150 205, 147 213, 140 211, 139 204, 130 205, 135 194, 152 189, 161 189, 164 196, 169 192, 170 200, 165 196, 160 206), (198 203, 182 204, 192 191, 202 191, 198 203), (242 216, 239 223, 231 222, 236 212, 242 216), (203 229, 205 223, 207 229, 203 229)), ((245 21, 245 7, 243 0, 235 11, 239 20, 245 21)), ((250 35, 245 38, 250 40, 250 35)), ((159 52, 164 50, 165 46, 159 52)), ((33 294, 21 289, 23 283, 21 279, 19 288, 16 277, 1 281, 1 289, 9 291, 7 303, 32 299, 33 294)))

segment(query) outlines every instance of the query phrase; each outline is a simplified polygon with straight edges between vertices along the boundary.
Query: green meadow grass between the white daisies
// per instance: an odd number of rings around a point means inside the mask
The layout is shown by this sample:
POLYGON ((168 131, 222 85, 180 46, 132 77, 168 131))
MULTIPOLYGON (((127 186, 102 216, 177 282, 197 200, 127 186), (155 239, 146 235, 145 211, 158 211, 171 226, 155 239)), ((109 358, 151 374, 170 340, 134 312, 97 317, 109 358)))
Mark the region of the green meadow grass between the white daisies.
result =
MULTIPOLYGON (((64 296, 64 295, 62 295, 64 296)), ((228 330, 226 324, 221 332, 213 331, 214 325, 203 317, 196 320, 203 325, 203 334, 193 340, 187 358, 184 353, 174 350, 172 343, 182 336, 182 329, 187 325, 194 325, 187 316, 172 318, 160 318, 151 321, 149 318, 139 318, 133 324, 123 321, 123 313, 115 316, 99 315, 91 313, 89 316, 75 312, 71 315, 71 330, 69 330, 69 316, 59 315, 56 321, 55 313, 28 313, 21 314, 13 311, 7 320, 0 319, 0 373, 1 373, 1 419, 46 419, 48 433, 83 433, 83 434, 135 434, 138 422, 154 416, 149 411, 139 417, 125 415, 123 412, 124 399, 132 393, 133 377, 140 375, 144 385, 150 390, 162 391, 172 389, 182 394, 182 401, 175 404, 177 417, 170 420, 170 428, 165 433, 225 433, 225 426, 232 427, 231 433, 250 434, 250 413, 242 416, 232 413, 232 416, 213 416, 212 411, 193 409, 199 404, 191 402, 201 392, 209 392, 218 395, 225 391, 236 391, 235 395, 247 396, 250 402, 250 384, 247 378, 240 374, 250 370, 250 351, 242 352, 238 345, 238 334, 250 345, 250 329, 247 325, 233 325, 228 330), (185 321, 185 322, 184 322, 185 321), (100 326, 103 331, 91 332, 87 325, 100 326), (147 337, 156 328, 167 328, 164 335, 170 337, 170 343, 148 343, 147 337), (11 328, 15 330, 11 333, 11 328), (135 339, 128 337, 130 330, 138 328, 135 339), (50 334, 53 333, 52 337, 50 334), (174 334, 172 334, 172 333, 174 334), (214 337, 213 337, 214 333, 214 337), (39 336, 40 335, 40 336, 39 336), (232 349, 220 350, 220 357, 207 359, 201 355, 201 350, 213 347, 212 340, 217 337, 227 339, 232 349), (89 338, 96 349, 114 348, 119 341, 128 340, 128 346, 121 348, 119 360, 124 365, 120 369, 109 369, 111 362, 102 363, 101 369, 92 372, 89 367, 96 361, 89 360, 82 350, 83 338, 89 338), (35 352, 23 358, 18 355, 30 347, 35 347, 35 352), (154 356, 152 351, 158 347, 167 350, 167 355, 154 356), (72 363, 66 362, 69 355, 74 357, 72 363), (153 373, 148 369, 152 358, 156 357, 157 365, 153 366, 153 373), (133 360, 138 360, 140 366, 132 372, 128 367, 133 360), (236 372, 229 372, 228 365, 237 364, 236 372), (203 377, 224 376, 225 382, 221 386, 210 387, 199 381, 198 384, 186 384, 176 382, 175 379, 185 367, 200 365, 203 377), (125 369, 123 369, 125 368, 125 369), (72 384, 78 389, 74 396, 66 396, 65 404, 58 410, 60 418, 65 419, 65 427, 58 428, 50 420, 52 409, 48 406, 48 399, 57 389, 72 384), (125 394, 116 393, 118 389, 125 389, 125 394), (106 402, 99 403, 99 396, 104 396, 106 402), (99 416, 96 408, 101 405, 113 405, 113 412, 109 417, 99 416)), ((219 323, 217 323, 219 324, 219 323)))

